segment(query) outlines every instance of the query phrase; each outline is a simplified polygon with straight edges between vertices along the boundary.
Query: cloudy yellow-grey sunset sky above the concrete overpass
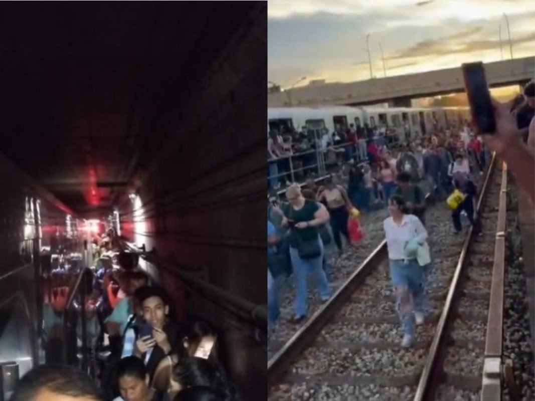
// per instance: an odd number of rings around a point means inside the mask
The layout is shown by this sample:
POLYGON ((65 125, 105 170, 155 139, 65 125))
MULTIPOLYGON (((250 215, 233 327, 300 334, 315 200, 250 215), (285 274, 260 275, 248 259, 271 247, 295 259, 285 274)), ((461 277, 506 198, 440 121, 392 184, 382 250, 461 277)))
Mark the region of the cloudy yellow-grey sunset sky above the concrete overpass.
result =
POLYGON ((282 87, 388 76, 535 55, 535 0, 269 0, 268 78, 282 87))

